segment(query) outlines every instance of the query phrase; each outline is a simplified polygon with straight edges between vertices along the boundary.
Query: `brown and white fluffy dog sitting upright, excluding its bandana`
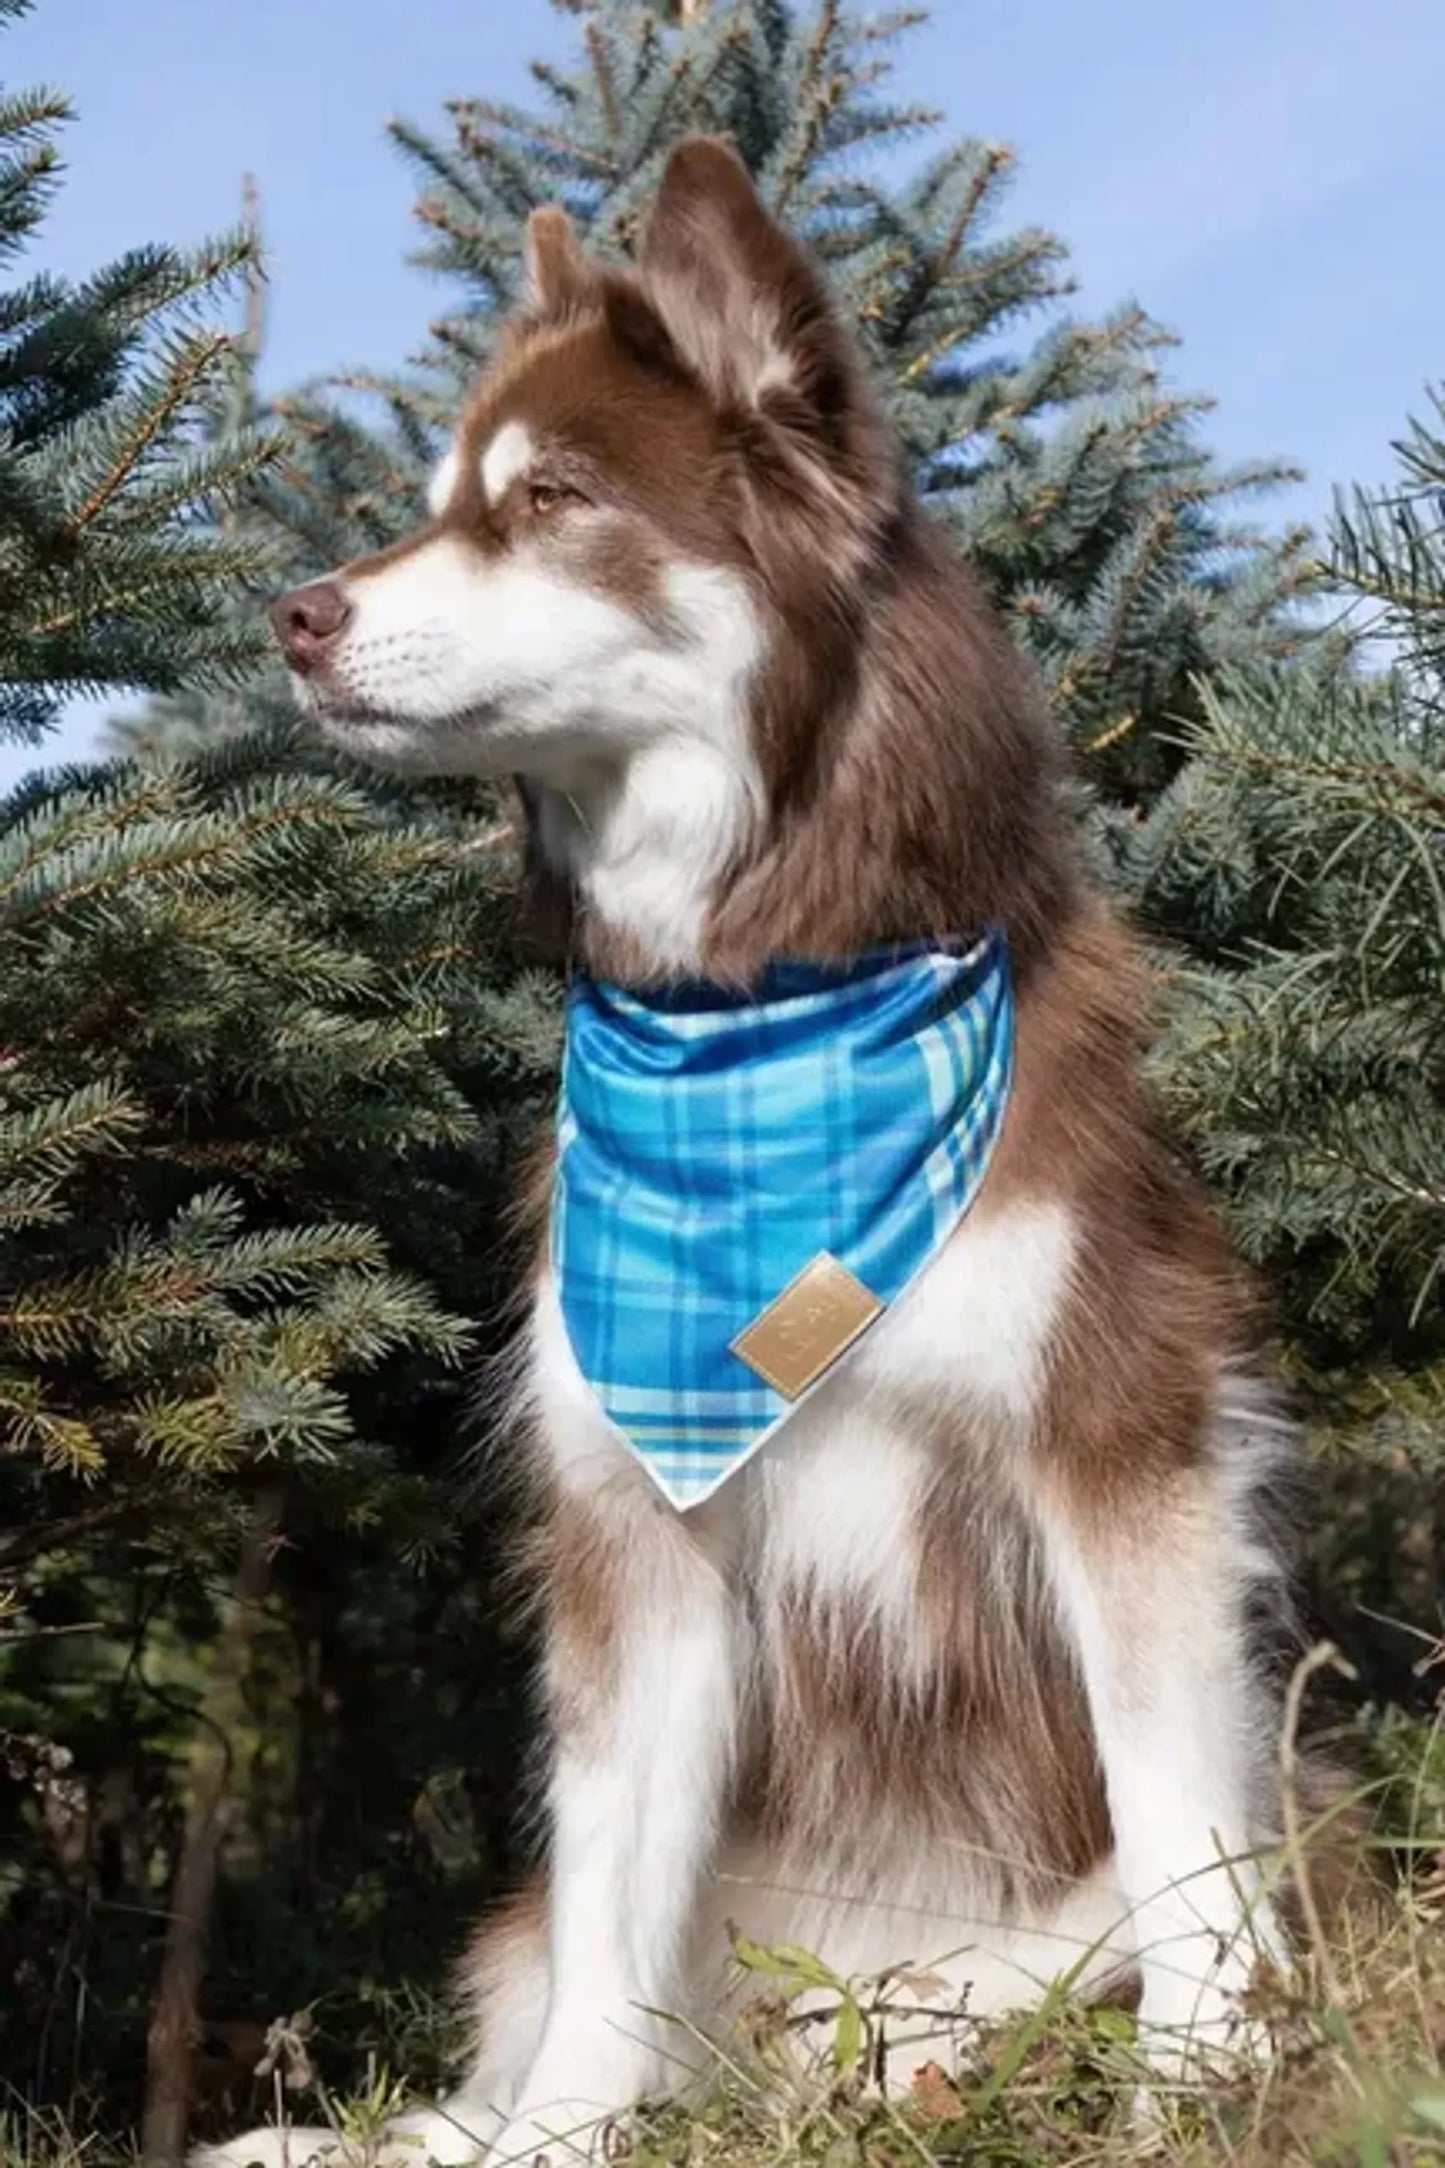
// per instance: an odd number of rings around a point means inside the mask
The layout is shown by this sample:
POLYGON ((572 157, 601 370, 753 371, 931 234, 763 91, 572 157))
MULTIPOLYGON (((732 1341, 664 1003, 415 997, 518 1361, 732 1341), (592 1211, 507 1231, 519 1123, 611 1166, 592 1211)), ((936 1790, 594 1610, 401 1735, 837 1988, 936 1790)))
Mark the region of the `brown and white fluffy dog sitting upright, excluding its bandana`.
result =
POLYGON ((745 984, 999 924, 1018 1002, 960 1231, 695 1511, 609 1431, 537 1266, 548 1869, 470 1958, 472 2075, 396 2138, 585 2148, 687 2062, 654 2012, 717 2023, 728 1917, 838 1973, 925 1962, 973 2012, 1129 1964, 1157 2060, 1228 2042, 1276 1940, 1287 1431, 1029 672, 728 147, 676 150, 633 273, 533 217, 431 522, 275 624, 338 746, 526 778, 596 973, 745 984))

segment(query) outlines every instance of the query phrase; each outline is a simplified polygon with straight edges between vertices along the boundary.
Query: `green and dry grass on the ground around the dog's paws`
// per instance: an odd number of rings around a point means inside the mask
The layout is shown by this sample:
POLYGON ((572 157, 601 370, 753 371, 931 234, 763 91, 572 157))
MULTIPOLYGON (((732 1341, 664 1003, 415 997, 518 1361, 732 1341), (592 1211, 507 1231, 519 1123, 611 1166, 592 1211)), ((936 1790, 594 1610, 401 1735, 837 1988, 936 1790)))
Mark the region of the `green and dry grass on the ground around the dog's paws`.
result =
MULTIPOLYGON (((1371 1836, 1352 1838, 1365 1869, 1352 1897, 1330 1910, 1324 1873, 1309 1864, 1315 1838, 1296 1834, 1296 1882, 1304 1858, 1319 1904, 1302 1908, 1293 1969, 1257 1969, 1250 2014, 1267 2047, 1202 2083, 1159 2083, 1124 2012, 1064 1992, 979 2023, 938 2001, 927 1975, 838 1979, 802 1951, 739 1943, 743 2012, 734 2034, 708 2044, 706 2081, 687 2103, 643 2107, 630 2129, 587 2135, 600 2157, 630 2168, 1445 2168, 1439 1721, 1387 1728, 1376 1771, 1380 1812, 1371 1836), (886 2090, 882 2051, 901 2025, 919 2042, 914 2075, 886 2090)), ((409 1990, 383 1999, 364 2075, 349 2060, 355 2042, 329 2040, 318 2016, 299 2034, 277 2027, 279 2055, 249 2105, 234 2103, 230 2127, 279 2109, 329 2125, 338 2168, 375 2168, 386 2116, 405 2105, 414 2075, 455 2051, 455 2014, 409 1990)), ((695 2060, 682 2029, 678 2047, 695 2060)), ((74 2116, 15 2107, 0 2120, 0 2168, 132 2168, 128 2146, 76 2131, 74 2116)))

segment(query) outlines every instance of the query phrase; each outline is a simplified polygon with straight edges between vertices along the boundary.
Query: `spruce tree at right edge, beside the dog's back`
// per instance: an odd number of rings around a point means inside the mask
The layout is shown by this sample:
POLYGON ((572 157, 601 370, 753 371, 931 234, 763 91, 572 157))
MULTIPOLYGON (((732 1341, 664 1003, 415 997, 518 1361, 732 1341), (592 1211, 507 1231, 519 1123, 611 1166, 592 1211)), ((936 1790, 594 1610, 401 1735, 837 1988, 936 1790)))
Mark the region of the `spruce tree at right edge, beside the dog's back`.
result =
POLYGON ((1205 692, 1127 876, 1176 952, 1159 1080, 1267 1275, 1330 1476, 1319 1600, 1428 1691, 1445 1567, 1445 408, 1341 499, 1345 661, 1205 692))

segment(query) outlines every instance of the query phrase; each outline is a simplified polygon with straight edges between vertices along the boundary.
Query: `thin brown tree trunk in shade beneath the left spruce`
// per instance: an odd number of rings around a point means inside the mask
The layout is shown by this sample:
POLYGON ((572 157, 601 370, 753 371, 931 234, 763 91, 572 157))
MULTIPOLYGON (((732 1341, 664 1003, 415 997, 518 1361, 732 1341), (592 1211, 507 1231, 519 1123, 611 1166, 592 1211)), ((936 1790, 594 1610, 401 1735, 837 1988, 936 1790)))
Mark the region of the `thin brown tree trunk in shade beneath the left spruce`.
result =
POLYGON ((266 1492, 256 1500, 251 1526, 240 1546, 236 1587, 217 1643, 217 1667, 191 1741, 186 1834, 175 1862, 160 1984, 145 2040, 141 2144, 152 2168, 178 2168, 186 2151, 191 2060, 201 2036, 199 1995, 206 1938, 232 1784, 225 1721, 251 1661, 251 1643, 271 1576, 271 1537, 279 1520, 279 1505, 277 1492, 266 1492))

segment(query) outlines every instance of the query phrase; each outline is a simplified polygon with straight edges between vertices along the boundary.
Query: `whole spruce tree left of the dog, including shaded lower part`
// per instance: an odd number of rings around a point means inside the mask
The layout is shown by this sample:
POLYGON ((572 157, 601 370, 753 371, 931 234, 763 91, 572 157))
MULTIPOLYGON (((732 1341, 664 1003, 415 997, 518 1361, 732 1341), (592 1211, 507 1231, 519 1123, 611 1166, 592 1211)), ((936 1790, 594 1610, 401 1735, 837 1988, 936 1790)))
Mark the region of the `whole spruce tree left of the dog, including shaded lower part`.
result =
MULTIPOLYGON (((11 260, 65 111, 0 106, 11 260)), ((214 323, 249 262, 247 236, 145 247, 0 293, 4 731, 82 689, 223 698, 260 653, 238 590, 269 579, 266 540, 234 496, 279 442, 214 323)), ((468 1539, 485 1557, 461 1357, 555 1051, 550 1006, 496 963, 503 859, 446 800, 422 820, 264 737, 0 804, 0 2064, 39 2099, 117 2077, 108 2116, 130 2114, 160 1984, 156 2157, 208 1930, 225 1992, 256 1921, 297 1893, 305 1912, 325 1873, 310 1949, 292 1930, 249 1960, 303 1997, 349 1899, 379 1932, 377 1856, 459 1741, 464 1869, 503 1821, 490 1576, 420 1576, 468 1539), (442 1611, 455 1669, 433 1659, 418 1698, 442 1611), (396 1704, 409 1724, 381 1721, 396 1704)), ((435 1940, 453 1867, 418 1823, 383 1899, 403 1934, 435 1940)))

